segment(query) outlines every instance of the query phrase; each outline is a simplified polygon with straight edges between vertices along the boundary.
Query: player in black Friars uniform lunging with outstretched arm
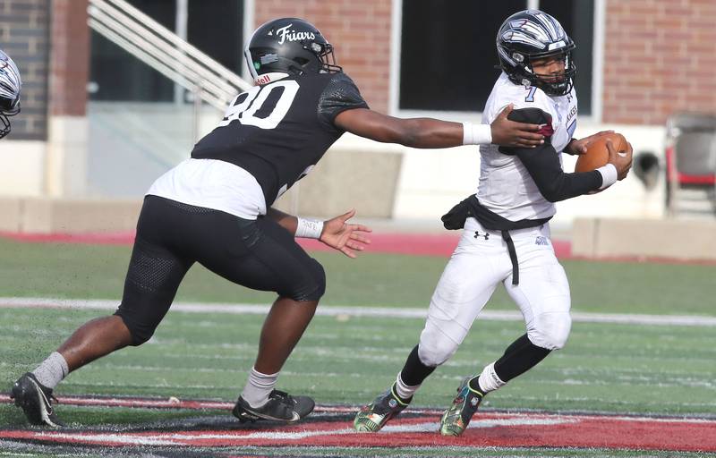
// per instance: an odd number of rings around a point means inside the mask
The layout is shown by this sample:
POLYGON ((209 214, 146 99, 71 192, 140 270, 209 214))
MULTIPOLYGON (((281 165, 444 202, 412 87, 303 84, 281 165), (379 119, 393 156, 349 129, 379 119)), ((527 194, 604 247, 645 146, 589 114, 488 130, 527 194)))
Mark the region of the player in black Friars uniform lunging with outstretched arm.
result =
POLYGON ((159 177, 144 199, 122 303, 115 314, 77 329, 37 369, 13 385, 15 404, 34 424, 60 425, 53 388, 72 370, 154 333, 184 274, 199 262, 236 283, 278 294, 264 323, 259 354, 234 415, 245 420, 300 420, 307 396, 274 389, 278 373, 303 335, 326 278, 294 237, 320 239, 353 258, 370 229, 271 208, 350 131, 416 148, 490 143, 533 147, 539 126, 507 120, 492 125, 402 120, 371 111, 333 49, 309 22, 285 18, 256 30, 245 49, 257 85, 236 97, 192 157, 159 177))

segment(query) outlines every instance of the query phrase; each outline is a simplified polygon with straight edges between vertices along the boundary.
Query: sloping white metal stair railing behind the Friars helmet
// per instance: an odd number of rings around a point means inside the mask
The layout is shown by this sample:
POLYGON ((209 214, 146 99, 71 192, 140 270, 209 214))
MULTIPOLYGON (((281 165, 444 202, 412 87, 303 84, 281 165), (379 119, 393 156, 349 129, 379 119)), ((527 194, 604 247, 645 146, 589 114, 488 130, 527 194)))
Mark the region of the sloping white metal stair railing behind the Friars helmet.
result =
POLYGON ((197 106, 203 100, 223 111, 236 94, 251 88, 249 82, 125 0, 90 0, 88 15, 90 28, 192 91, 197 106))

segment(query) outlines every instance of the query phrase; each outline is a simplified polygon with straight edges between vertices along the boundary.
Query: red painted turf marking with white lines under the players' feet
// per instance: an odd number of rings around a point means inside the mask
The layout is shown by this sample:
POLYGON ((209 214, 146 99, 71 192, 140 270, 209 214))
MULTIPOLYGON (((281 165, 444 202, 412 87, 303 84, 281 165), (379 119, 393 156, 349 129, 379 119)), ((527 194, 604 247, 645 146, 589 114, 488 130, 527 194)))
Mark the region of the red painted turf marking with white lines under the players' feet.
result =
POLYGON ((124 446, 465 446, 597 447, 609 449, 716 452, 712 420, 668 420, 536 413, 485 413, 461 437, 442 437, 439 415, 396 419, 378 434, 356 433, 349 421, 307 422, 297 426, 186 431, 107 432, 4 429, 0 438, 45 444, 124 446), (479 424, 478 424, 479 423, 479 424))

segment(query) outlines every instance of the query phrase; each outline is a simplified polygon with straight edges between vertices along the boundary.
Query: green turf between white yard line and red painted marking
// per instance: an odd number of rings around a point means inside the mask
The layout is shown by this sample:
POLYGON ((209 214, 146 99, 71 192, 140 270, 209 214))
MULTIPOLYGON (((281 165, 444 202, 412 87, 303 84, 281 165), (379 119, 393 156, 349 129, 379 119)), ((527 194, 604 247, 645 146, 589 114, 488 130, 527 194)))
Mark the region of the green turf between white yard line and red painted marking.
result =
MULTIPOLYGON (((34 369, 74 327, 98 313, 0 310, 0 383, 10 386, 19 374, 34 369)), ((286 364, 280 386, 310 394, 319 403, 367 403, 395 379, 422 328, 417 318, 344 320, 314 319, 286 364)), ((260 315, 170 312, 151 343, 72 373, 60 393, 234 400, 251 369, 261 322, 260 315)), ((447 406, 462 377, 496 360, 522 333, 517 322, 477 323, 456 355, 425 382, 415 402, 447 406)), ((703 345, 712 335, 710 327, 575 323, 563 351, 490 394, 484 406, 707 415, 716 411, 711 364, 716 348, 703 345)), ((86 410, 67 408, 64 417, 84 422, 86 410)), ((12 422, 22 420, 19 411, 3 412, 12 422)), ((111 419, 115 421, 123 420, 111 419)))

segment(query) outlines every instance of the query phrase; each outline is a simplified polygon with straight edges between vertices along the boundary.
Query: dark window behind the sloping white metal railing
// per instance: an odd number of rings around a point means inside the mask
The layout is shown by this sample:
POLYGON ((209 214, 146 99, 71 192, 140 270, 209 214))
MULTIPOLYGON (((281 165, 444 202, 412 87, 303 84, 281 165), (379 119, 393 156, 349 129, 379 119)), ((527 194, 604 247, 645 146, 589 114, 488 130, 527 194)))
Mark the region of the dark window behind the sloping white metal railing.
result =
MULTIPOLYGON (((177 15, 185 13, 186 40, 219 64, 241 73, 243 1, 129 0, 132 6, 176 32, 177 15), (185 11, 180 9, 185 8, 185 11), (211 27, 207 27, 211 24, 211 27)), ((175 100, 175 83, 149 65, 91 30, 92 100, 167 102, 175 100)))

